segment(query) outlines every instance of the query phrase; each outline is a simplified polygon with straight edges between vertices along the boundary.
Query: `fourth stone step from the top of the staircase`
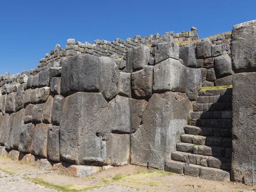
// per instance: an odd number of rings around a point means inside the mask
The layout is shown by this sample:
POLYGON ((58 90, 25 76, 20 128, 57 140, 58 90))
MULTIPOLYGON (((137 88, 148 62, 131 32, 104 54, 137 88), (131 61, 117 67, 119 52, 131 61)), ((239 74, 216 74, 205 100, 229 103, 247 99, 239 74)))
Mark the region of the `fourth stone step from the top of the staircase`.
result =
POLYGON ((192 119, 232 119, 232 111, 196 111, 190 116, 192 119))

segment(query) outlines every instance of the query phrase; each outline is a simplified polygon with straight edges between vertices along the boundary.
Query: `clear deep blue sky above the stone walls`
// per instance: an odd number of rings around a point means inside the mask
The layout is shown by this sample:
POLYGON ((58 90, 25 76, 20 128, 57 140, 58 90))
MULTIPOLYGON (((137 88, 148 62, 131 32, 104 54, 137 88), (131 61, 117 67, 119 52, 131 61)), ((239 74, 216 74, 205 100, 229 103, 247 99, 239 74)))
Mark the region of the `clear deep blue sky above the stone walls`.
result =
POLYGON ((1 0, 0 74, 37 67, 68 38, 113 41, 198 28, 200 38, 256 19, 256 0, 1 0))

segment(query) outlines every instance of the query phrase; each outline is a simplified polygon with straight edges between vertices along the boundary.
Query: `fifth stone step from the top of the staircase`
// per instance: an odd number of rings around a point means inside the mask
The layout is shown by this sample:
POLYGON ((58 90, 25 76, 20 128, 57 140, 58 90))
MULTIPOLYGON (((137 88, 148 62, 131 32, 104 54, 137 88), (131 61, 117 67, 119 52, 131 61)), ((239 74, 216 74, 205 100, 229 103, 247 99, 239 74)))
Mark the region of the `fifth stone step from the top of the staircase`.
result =
POLYGON ((188 119, 188 125, 209 128, 231 128, 232 119, 188 119))

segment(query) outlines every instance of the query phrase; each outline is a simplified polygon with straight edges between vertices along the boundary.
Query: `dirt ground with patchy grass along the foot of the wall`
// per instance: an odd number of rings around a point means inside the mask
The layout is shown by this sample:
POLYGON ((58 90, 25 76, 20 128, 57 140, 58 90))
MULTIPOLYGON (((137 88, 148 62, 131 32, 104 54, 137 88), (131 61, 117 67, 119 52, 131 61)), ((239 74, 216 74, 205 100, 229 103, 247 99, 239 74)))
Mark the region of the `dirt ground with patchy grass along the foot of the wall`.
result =
POLYGON ((169 191, 169 192, 247 192, 256 187, 242 183, 218 182, 198 177, 149 171, 141 166, 102 170, 88 177, 41 170, 7 157, 0 157, 0 192, 34 191, 169 191))

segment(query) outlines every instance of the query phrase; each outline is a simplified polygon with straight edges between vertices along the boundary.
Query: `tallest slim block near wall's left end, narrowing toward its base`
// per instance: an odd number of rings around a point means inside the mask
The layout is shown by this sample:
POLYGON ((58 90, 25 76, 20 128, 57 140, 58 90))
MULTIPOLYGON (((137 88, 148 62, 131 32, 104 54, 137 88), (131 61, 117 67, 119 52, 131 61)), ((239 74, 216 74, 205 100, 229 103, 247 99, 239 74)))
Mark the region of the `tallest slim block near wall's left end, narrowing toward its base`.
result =
POLYGON ((13 128, 14 128, 14 140, 13 140, 13 148, 18 149, 20 145, 20 134, 21 134, 21 126, 24 125, 24 116, 25 109, 21 109, 15 113, 15 117, 13 120, 13 128))

